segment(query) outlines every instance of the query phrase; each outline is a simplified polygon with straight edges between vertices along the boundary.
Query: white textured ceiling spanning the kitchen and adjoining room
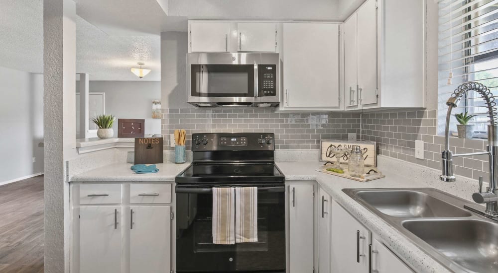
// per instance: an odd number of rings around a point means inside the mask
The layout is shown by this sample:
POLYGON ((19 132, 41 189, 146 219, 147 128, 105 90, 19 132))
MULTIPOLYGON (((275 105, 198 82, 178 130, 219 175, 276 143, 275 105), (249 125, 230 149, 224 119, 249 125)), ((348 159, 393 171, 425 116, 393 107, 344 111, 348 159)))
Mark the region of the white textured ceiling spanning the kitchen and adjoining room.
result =
MULTIPOLYGON (((43 0, 0 0, 0 66, 43 71, 43 0)), ((76 70, 90 80, 160 80, 162 31, 188 19, 343 20, 364 0, 75 0, 76 70)))

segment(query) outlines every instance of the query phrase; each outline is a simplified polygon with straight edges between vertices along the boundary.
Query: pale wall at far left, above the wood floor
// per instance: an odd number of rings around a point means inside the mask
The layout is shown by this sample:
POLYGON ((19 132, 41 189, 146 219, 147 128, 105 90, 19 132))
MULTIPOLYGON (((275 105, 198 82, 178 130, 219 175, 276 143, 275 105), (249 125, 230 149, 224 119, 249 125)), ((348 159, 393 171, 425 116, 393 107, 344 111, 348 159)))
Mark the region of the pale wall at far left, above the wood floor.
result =
POLYGON ((43 172, 43 75, 0 67, 0 83, 1 184, 43 172))

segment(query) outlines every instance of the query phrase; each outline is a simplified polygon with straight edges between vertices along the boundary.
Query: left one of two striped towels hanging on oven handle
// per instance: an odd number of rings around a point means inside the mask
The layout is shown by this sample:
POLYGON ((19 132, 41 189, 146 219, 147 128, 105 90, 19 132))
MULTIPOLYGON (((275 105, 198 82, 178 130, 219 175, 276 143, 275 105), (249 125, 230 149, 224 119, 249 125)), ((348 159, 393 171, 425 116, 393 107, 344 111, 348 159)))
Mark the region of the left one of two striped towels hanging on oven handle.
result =
POLYGON ((235 244, 235 188, 213 188, 213 244, 235 244))

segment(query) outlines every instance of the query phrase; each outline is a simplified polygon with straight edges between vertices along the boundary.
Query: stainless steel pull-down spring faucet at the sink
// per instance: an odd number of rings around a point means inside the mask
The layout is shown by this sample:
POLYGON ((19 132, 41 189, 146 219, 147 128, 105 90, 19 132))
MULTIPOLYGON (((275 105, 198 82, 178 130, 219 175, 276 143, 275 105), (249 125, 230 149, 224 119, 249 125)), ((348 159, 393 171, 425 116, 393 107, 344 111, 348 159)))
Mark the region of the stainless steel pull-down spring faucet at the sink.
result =
MULTIPOLYGON (((478 204, 486 204, 486 211, 484 212, 487 216, 497 217, 498 216, 498 196, 497 196, 497 182, 498 182, 498 125, 497 125, 497 103, 495 102, 495 97, 488 90, 488 87, 484 86, 478 82, 467 82, 460 85, 451 97, 446 102, 448 105, 448 112, 446 114, 446 128, 445 128, 445 141, 444 141, 444 151, 442 151, 442 163, 443 163, 443 173, 439 177, 445 182, 454 182, 455 176, 453 174, 453 156, 471 156, 479 154, 488 154, 490 157, 490 176, 489 176, 489 187, 486 192, 482 192, 482 178, 480 178, 480 189, 477 193, 472 195, 472 199, 478 204), (458 106, 462 96, 469 91, 477 91, 481 94, 481 97, 486 101, 486 107, 489 113, 488 125, 488 149, 487 151, 474 152, 474 153, 462 153, 453 154, 450 151, 450 117, 453 108, 458 106)), ((475 209, 473 209, 475 210, 475 209)))

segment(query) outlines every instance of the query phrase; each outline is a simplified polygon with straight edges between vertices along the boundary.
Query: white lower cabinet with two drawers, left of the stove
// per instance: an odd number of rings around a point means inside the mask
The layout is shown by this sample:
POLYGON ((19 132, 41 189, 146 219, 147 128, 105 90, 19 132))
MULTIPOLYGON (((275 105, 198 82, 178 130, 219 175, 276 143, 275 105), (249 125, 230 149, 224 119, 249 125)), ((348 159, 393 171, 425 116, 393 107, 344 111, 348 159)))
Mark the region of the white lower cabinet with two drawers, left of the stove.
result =
POLYGON ((71 272, 170 273, 171 188, 73 183, 71 272))

